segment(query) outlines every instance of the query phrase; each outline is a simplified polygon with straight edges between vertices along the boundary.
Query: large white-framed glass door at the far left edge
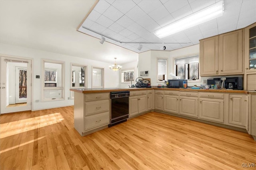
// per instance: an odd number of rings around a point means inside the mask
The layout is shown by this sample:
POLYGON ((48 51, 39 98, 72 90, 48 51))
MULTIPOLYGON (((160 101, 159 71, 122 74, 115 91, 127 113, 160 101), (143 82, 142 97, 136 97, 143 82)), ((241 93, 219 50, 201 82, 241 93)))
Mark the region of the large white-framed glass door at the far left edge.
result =
POLYGON ((20 59, 14 57, 1 56, 1 114, 12 113, 18 111, 31 110, 31 60, 20 59), (16 67, 26 68, 26 78, 21 79, 19 82, 21 87, 16 84, 16 67), (16 102, 16 94, 21 94, 22 100, 16 102))

